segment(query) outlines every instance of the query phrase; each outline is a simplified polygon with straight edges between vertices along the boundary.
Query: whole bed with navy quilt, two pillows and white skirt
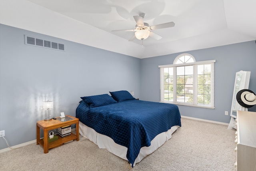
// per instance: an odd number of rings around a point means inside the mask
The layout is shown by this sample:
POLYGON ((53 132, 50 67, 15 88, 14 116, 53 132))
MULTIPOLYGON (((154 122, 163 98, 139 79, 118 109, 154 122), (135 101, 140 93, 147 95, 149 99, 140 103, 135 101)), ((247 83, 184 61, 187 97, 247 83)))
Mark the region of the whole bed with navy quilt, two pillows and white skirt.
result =
POLYGON ((80 134, 132 167, 181 126, 177 105, 136 100, 128 91, 81 97, 76 109, 80 134))

